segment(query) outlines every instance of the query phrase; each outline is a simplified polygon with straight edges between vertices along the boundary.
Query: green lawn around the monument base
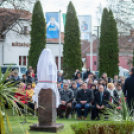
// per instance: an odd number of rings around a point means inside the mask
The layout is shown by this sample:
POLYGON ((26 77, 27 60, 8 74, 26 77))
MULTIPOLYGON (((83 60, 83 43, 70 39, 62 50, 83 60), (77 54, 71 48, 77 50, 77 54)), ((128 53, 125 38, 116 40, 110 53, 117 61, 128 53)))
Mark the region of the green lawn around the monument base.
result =
MULTIPOLYGON (((11 126, 12 126, 12 130, 13 130, 13 134, 24 134, 23 132, 23 128, 25 128, 25 130, 27 130, 30 134, 51 134, 51 133, 48 133, 48 132, 36 132, 36 131, 30 131, 29 130, 29 126, 31 124, 34 124, 34 123, 37 123, 38 122, 38 117, 34 117, 32 115, 28 115, 27 116, 27 120, 29 122, 32 122, 32 123, 26 123, 24 125, 22 125, 20 122, 24 121, 24 117, 19 117, 18 116, 13 116, 12 115, 12 112, 9 113, 10 116, 9 116, 9 120, 10 120, 10 123, 11 123, 11 126)), ((74 134, 73 131, 71 130, 70 128, 70 125, 72 123, 78 123, 78 122, 86 122, 86 121, 79 121, 79 120, 75 120, 74 118, 72 119, 58 119, 57 120, 57 123, 63 123, 64 124, 64 129, 62 131, 59 131, 58 134, 74 134)))

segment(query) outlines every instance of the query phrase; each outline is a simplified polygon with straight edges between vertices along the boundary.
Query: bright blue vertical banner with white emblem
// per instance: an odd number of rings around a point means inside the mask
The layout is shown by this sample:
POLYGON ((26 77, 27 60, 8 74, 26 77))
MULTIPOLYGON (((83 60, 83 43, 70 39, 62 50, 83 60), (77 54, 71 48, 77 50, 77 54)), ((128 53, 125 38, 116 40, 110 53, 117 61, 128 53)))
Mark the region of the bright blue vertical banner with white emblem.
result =
POLYGON ((59 38, 59 12, 46 13, 47 38, 59 38))

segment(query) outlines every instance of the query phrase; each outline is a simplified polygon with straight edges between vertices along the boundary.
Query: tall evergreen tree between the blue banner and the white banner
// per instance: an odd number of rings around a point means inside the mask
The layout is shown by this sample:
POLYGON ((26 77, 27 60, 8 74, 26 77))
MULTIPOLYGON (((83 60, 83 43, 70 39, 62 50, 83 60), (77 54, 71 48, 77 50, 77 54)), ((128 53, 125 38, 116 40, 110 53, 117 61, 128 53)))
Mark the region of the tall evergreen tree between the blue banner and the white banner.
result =
POLYGON ((69 2, 68 5, 64 34, 64 77, 71 79, 76 69, 82 69, 80 29, 75 7, 72 2, 69 2))

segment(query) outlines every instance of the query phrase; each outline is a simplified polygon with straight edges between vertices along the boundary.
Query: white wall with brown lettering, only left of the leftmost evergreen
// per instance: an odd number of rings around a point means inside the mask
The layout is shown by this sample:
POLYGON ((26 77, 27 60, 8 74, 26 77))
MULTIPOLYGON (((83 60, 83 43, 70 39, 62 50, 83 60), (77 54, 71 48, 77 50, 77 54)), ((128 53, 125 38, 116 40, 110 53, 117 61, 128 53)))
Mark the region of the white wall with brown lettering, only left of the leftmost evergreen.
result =
MULTIPOLYGON (((29 21, 22 21, 24 26, 29 25, 29 21)), ((4 44, 4 63, 16 63, 19 65, 19 56, 28 56, 29 47, 12 46, 12 43, 28 43, 30 44, 30 35, 19 34, 10 30, 6 34, 4 44)))

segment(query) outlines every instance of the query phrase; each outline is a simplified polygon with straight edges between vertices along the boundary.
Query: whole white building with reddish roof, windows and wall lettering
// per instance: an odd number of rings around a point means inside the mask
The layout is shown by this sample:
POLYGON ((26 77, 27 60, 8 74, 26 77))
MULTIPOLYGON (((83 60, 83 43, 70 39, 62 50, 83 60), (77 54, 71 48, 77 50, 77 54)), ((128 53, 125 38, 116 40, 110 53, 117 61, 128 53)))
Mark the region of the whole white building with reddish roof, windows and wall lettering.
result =
MULTIPOLYGON (((1 10, 1 9, 0 9, 1 10)), ((6 9, 14 12, 13 9, 6 9)), ((0 65, 3 64, 17 64, 28 65, 28 53, 30 49, 30 30, 31 30, 31 17, 30 12, 23 11, 19 19, 11 23, 6 30, 2 31, 3 38, 0 39, 0 65), (26 14, 25 14, 26 12, 26 14)), ((15 14, 18 14, 16 11, 15 14)), ((12 17, 11 17, 12 19, 12 17)), ((10 21, 10 20, 9 20, 10 21)), ((61 33, 61 65, 63 61, 63 39, 64 34, 61 33)), ((55 62, 58 66, 59 58, 59 40, 47 39, 46 48, 52 51, 55 62)))

